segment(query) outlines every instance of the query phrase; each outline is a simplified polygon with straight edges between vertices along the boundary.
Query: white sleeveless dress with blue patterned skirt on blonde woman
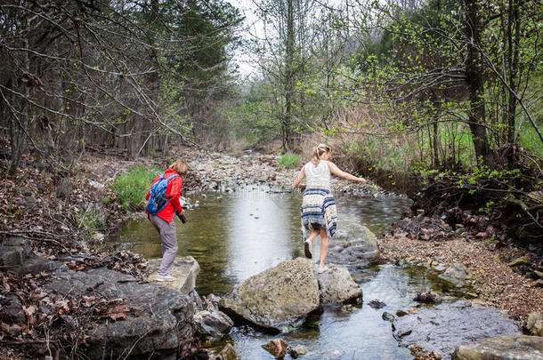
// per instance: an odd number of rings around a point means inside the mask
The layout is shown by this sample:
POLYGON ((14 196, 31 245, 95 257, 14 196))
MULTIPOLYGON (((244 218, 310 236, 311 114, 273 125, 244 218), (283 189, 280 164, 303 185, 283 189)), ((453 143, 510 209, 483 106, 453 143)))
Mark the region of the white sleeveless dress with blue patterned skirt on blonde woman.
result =
POLYGON ((330 191, 330 169, 326 160, 304 165, 305 191, 302 208, 302 240, 316 228, 326 229, 328 239, 336 234, 337 210, 336 201, 330 191))

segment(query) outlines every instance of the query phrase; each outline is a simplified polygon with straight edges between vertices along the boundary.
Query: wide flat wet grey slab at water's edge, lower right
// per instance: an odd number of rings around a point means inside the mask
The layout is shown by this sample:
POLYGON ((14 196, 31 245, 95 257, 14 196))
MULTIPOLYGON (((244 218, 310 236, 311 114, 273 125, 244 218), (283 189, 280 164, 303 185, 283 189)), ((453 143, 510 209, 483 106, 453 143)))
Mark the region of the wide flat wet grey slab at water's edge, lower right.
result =
POLYGON ((417 345, 443 359, 450 359, 454 349, 466 343, 520 334, 515 322, 497 308, 471 306, 469 301, 421 308, 393 322, 393 335, 401 346, 417 345))

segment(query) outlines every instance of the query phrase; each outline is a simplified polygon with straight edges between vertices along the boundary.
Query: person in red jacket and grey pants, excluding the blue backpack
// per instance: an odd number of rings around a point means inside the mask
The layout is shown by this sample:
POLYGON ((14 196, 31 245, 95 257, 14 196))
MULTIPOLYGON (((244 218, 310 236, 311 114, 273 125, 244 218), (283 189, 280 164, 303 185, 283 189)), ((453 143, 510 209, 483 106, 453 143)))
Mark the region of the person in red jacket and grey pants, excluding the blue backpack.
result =
MULTIPOLYGON (((181 196, 182 188, 182 177, 185 176, 189 166, 182 161, 182 159, 177 159, 174 161, 174 164, 171 164, 164 172, 163 179, 167 179, 172 175, 175 176, 172 179, 168 180, 166 187, 166 199, 168 200, 166 206, 157 212, 156 215, 151 215, 147 212, 147 216, 151 224, 157 229, 158 234, 160 234, 160 240, 162 244, 162 261, 160 261, 160 268, 158 268, 157 281, 174 281, 175 277, 168 275, 172 266, 174 265, 175 254, 177 253, 177 234, 175 232, 175 213, 182 214, 181 204, 179 203, 179 196, 181 196)), ((160 176, 151 184, 152 186, 160 180, 160 176)), ((145 196, 146 200, 149 200, 150 189, 145 196)))

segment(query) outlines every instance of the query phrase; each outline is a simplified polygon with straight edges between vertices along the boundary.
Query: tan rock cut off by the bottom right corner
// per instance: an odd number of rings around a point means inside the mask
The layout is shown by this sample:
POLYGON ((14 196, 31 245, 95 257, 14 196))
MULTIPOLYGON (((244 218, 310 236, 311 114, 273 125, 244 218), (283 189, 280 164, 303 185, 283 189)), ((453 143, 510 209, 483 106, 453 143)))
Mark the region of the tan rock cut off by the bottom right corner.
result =
POLYGON ((539 336, 500 336, 459 346, 454 360, 540 360, 543 358, 543 338, 539 336))

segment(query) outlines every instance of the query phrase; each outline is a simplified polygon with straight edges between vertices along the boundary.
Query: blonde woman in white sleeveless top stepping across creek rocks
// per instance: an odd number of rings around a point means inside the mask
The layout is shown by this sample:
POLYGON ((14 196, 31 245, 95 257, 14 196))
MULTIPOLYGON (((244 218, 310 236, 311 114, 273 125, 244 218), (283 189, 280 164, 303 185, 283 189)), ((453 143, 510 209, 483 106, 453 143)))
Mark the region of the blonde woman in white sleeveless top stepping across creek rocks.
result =
POLYGON ((328 241, 336 233, 337 210, 334 196, 330 191, 330 173, 362 184, 367 182, 363 178, 341 171, 336 164, 328 161, 331 155, 331 149, 326 144, 314 147, 311 162, 304 165, 294 181, 295 188, 298 188, 305 178, 304 200, 300 209, 302 239, 305 256, 312 259, 312 243, 320 235, 319 274, 328 271, 324 260, 328 254, 328 241))

